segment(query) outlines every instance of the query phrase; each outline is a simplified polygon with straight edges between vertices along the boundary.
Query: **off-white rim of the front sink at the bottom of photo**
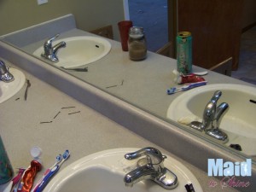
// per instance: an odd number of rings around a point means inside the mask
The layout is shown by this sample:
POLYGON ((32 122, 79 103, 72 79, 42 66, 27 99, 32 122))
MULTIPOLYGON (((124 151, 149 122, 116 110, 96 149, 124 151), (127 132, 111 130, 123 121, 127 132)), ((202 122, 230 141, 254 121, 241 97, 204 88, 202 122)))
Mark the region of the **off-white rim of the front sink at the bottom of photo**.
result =
MULTIPOLYGON (((109 172, 125 176, 125 173, 131 171, 129 170, 129 168, 131 169, 131 167, 134 166, 134 163, 137 162, 137 160, 125 160, 124 154, 137 151, 138 149, 140 148, 113 148, 84 156, 83 158, 74 161, 72 164, 61 170, 61 172, 59 172, 55 177, 51 179, 51 181, 45 187, 44 191, 59 191, 63 183, 67 181, 68 177, 72 177, 76 173, 82 172, 90 168, 100 168, 102 170, 108 169, 109 172), (105 160, 102 162, 102 160, 104 160, 104 158, 106 157, 112 158, 111 162, 109 160, 105 160)), ((192 172, 189 171, 189 169, 186 166, 183 166, 181 162, 172 158, 169 155, 167 157, 168 158, 165 160, 164 165, 167 165, 169 169, 171 167, 171 170, 173 170, 173 168, 176 170, 173 172, 177 174, 177 179, 179 183, 177 185, 177 188, 172 189, 172 191, 180 191, 178 187, 181 186, 183 189, 185 189, 183 185, 185 185, 186 183, 193 183, 193 186, 196 189, 196 191, 202 191, 201 184, 198 182, 197 178, 194 176, 192 172), (180 175, 185 177, 186 183, 181 183, 181 179, 179 179, 178 175, 179 177, 180 175)), ((156 183, 155 186, 160 187, 156 183)), ((162 188, 160 187, 160 189, 162 188)), ((166 191, 166 189, 163 190, 166 191)))

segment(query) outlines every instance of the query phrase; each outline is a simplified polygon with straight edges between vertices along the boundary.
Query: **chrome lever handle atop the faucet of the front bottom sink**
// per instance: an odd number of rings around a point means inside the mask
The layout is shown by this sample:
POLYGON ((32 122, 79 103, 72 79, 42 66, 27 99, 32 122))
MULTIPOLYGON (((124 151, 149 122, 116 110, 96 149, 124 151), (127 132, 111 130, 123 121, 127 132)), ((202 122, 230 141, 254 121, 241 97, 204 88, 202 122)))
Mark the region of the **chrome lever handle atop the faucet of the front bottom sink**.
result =
POLYGON ((165 155, 162 155, 157 148, 142 148, 133 153, 125 154, 126 160, 135 160, 143 155, 146 155, 152 165, 158 165, 166 159, 165 155))

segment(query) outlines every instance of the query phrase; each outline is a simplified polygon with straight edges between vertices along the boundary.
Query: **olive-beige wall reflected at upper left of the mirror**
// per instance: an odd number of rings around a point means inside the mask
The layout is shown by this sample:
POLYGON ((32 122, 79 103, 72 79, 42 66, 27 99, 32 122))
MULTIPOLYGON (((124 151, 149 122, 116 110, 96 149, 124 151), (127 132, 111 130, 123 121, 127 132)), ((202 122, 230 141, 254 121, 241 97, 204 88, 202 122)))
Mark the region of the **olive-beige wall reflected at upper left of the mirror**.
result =
POLYGON ((43 5, 37 0, 0 0, 0 36, 67 14, 84 31, 112 25, 115 39, 117 22, 125 17, 122 0, 48 0, 43 5))

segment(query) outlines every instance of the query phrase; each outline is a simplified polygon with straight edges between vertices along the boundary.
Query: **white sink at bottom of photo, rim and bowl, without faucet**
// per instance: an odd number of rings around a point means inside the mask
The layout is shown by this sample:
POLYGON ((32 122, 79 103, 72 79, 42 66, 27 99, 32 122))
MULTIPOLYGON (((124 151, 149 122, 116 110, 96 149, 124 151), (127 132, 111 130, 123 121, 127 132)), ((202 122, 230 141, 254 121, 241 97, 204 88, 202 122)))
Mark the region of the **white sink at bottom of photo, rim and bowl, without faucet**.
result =
MULTIPOLYGON (((136 183, 132 188, 125 186, 125 174, 131 172, 137 160, 125 160, 124 155, 137 149, 115 148, 90 154, 57 173, 44 192, 166 192, 166 189, 149 180, 136 183)), ((185 192, 184 185, 187 183, 193 183, 195 191, 202 191, 195 176, 180 162, 168 156, 164 165, 177 175, 178 186, 172 191, 185 192)))

